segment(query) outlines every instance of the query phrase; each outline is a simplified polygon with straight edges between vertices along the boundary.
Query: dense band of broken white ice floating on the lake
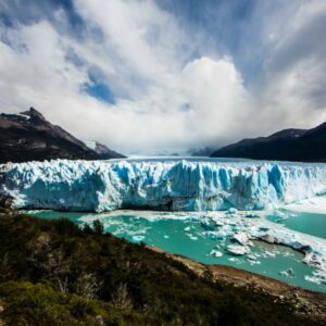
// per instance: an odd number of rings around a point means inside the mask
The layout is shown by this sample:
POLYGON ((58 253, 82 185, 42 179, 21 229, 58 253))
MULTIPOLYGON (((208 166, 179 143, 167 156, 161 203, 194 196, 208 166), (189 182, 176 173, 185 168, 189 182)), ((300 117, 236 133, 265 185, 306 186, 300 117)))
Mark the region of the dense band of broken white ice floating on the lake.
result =
MULTIPOLYGON (((268 214, 268 212, 265 214, 268 214)), ((244 214, 238 212, 233 216, 229 216, 228 212, 208 212, 205 218, 213 220, 218 226, 216 229, 205 230, 203 234, 226 246, 226 253, 230 255, 247 255, 247 260, 252 264, 260 263, 258 261, 259 256, 274 258, 276 254, 291 254, 280 253, 271 248, 271 250, 264 250, 258 255, 250 248, 254 239, 292 248, 302 252, 304 255, 302 262, 313 268, 313 276, 306 276, 305 279, 317 284, 326 283, 325 239, 290 230, 284 225, 267 221, 263 214, 260 218, 247 218, 246 215, 247 212, 244 214), (230 240, 233 243, 228 244, 227 240, 230 240)), ((285 272, 289 275, 291 274, 290 271, 284 271, 281 275, 285 276, 285 272)))

